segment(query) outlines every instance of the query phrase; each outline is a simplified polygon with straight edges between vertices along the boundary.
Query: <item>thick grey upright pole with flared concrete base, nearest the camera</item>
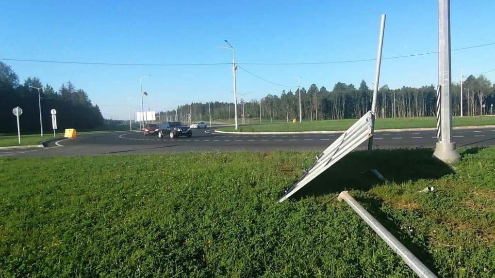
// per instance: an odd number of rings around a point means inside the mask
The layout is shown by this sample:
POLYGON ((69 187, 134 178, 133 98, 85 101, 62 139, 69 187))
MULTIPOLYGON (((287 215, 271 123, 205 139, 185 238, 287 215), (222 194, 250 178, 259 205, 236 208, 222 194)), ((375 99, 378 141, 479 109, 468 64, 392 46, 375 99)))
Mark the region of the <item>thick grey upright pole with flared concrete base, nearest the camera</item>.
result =
POLYGON ((455 149, 455 143, 451 142, 452 113, 450 102, 450 0, 439 0, 438 13, 438 47, 439 47, 439 71, 438 81, 440 86, 440 138, 437 142, 433 157, 446 163, 460 161, 459 152, 455 149))

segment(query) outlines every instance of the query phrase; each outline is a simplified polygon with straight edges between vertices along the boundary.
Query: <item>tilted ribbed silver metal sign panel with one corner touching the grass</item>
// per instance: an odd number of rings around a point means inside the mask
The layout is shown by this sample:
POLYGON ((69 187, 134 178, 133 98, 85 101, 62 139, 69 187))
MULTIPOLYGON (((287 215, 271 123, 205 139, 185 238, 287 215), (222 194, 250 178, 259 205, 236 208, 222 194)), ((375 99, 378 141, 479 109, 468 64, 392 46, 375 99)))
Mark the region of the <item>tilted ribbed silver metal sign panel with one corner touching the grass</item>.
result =
POLYGON ((330 168, 330 166, 339 161, 339 159, 342 159, 372 135, 372 115, 371 111, 368 111, 316 158, 313 165, 306 170, 301 179, 279 199, 279 202, 283 202, 285 199, 291 197, 299 189, 304 187, 319 174, 323 173, 326 169, 330 168))

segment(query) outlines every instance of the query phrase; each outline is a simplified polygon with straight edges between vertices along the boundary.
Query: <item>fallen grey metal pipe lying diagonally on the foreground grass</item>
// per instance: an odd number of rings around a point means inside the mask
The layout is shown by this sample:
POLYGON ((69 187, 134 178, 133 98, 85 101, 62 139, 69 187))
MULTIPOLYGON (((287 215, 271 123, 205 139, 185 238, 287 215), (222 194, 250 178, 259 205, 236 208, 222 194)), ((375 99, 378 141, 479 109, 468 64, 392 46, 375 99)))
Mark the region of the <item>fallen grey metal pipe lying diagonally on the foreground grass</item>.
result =
POLYGON ((411 251, 409 251, 397 238, 395 238, 380 222, 378 222, 364 207, 362 207, 349 192, 339 194, 339 201, 345 200, 347 204, 361 217, 380 238, 382 238, 394 252, 421 278, 437 278, 411 251))

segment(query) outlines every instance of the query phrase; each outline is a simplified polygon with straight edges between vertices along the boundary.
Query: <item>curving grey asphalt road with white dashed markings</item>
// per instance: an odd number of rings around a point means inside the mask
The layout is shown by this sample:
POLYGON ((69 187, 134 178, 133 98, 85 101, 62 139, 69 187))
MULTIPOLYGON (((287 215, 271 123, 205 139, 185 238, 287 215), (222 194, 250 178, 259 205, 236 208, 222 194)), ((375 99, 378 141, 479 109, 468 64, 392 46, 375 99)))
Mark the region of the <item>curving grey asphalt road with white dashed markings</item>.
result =
MULTIPOLYGON (((193 137, 159 139, 141 131, 80 135, 74 139, 53 141, 48 147, 0 150, 0 157, 93 156, 105 154, 154 154, 189 151, 322 151, 340 134, 250 135, 215 133, 214 129, 195 129, 193 137)), ((457 146, 495 145, 495 128, 457 129, 457 146)), ((374 148, 434 148, 436 132, 375 132, 374 148)), ((366 148, 366 143, 358 149, 366 148)))

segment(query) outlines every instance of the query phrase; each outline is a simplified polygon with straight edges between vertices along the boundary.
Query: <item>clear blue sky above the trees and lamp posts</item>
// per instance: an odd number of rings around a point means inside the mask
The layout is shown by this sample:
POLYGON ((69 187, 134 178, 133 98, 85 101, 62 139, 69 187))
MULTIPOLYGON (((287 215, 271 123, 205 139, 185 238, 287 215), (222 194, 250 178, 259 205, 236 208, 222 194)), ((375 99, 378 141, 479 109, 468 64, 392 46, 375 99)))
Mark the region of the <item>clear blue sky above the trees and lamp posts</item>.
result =
MULTIPOLYGON (((451 0, 451 47, 495 42, 494 0, 451 0)), ((436 0, 333 1, 2 1, 0 58, 107 63, 224 63, 227 39, 239 63, 327 62, 376 57, 380 15, 387 14, 383 57, 438 49, 436 0)), ((495 45, 452 52, 453 80, 495 69, 495 45)), ((384 60, 380 85, 437 84, 438 55, 384 60)), ((127 119, 127 101, 145 110, 193 101, 233 101, 229 65, 104 66, 4 61, 21 82, 39 77, 58 89, 85 89, 105 118, 127 119), (129 100, 126 100, 129 98, 129 100)), ((374 61, 326 65, 241 65, 270 81, 333 88, 337 81, 371 87, 374 61)), ((495 71, 486 76, 495 81, 495 71)), ((290 88, 238 70, 247 99, 290 88)))

